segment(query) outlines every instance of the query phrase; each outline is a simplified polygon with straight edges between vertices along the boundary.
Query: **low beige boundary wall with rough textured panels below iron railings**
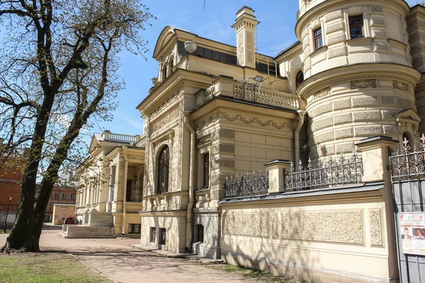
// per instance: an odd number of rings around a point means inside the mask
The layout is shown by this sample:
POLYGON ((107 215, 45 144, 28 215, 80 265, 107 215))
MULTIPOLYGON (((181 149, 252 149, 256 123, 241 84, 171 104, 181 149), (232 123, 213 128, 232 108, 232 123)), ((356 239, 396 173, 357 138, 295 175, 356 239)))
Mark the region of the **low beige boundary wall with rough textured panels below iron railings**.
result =
POLYGON ((389 270, 379 192, 220 207, 221 254, 229 263, 319 283, 390 282, 397 274, 389 270))

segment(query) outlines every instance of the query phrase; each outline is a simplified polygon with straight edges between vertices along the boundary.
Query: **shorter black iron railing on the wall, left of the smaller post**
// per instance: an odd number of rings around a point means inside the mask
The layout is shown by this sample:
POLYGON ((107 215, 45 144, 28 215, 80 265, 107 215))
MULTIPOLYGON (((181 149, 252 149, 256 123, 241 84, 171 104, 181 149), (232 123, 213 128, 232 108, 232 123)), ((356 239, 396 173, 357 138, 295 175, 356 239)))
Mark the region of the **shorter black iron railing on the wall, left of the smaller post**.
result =
POLYGON ((249 195, 265 195, 268 192, 268 171, 256 175, 231 175, 226 177, 225 197, 244 197, 249 195))

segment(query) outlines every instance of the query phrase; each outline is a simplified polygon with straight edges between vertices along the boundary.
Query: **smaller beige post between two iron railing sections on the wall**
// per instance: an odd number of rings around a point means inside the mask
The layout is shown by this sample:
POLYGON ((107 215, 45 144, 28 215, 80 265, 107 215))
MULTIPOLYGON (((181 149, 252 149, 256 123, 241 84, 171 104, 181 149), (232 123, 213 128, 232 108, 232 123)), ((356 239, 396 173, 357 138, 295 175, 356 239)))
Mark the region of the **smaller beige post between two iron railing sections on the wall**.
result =
POLYGON ((266 168, 268 170, 268 193, 285 192, 285 175, 283 171, 289 172, 290 161, 285 159, 268 161, 266 168))

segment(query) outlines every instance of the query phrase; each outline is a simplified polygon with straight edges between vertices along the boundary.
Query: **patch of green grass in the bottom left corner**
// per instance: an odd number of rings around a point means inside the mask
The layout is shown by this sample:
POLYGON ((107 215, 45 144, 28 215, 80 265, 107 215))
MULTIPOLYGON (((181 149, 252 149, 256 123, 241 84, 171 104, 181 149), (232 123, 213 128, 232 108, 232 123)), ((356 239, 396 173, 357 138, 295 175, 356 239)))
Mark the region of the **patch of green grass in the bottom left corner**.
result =
POLYGON ((106 283, 98 275, 67 253, 15 253, 0 255, 0 282, 31 283, 106 283))

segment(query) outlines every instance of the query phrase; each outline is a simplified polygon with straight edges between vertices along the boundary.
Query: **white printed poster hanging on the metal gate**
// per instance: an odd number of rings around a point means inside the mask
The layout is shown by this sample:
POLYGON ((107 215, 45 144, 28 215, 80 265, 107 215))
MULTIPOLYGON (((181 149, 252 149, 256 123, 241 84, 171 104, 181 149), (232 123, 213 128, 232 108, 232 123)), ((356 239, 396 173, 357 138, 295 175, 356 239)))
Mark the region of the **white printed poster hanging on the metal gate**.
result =
POLYGON ((403 253, 425 255, 424 212, 399 212, 398 218, 403 253))

